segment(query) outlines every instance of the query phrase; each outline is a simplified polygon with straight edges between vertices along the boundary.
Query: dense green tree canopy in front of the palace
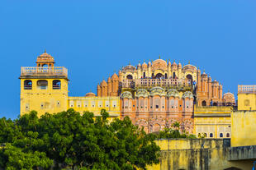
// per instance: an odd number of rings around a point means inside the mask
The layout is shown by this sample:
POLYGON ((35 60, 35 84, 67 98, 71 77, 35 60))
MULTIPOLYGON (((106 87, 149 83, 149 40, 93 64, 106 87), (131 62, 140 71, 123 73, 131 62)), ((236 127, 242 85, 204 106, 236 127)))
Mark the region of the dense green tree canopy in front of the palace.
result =
POLYGON ((134 126, 129 117, 107 120, 72 108, 37 117, 0 119, 0 168, 145 169, 159 163, 156 136, 134 126))

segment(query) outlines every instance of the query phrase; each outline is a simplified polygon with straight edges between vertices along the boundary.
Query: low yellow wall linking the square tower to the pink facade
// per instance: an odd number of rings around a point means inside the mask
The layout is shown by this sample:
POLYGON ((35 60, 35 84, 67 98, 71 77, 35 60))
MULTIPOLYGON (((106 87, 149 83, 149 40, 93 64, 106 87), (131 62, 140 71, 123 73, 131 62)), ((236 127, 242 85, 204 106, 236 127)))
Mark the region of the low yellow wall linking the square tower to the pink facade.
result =
POLYGON ((104 108, 110 117, 120 116, 120 99, 119 97, 69 97, 69 108, 83 113, 90 111, 95 116, 100 116, 104 108))

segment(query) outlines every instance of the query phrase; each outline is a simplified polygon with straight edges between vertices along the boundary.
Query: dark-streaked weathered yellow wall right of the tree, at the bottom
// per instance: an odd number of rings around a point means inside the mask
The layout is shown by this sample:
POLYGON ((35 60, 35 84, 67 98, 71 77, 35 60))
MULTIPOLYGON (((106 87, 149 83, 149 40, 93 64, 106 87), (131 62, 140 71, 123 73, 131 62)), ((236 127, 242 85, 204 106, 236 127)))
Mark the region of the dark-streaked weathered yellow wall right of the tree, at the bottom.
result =
POLYGON ((165 169, 252 169, 252 160, 228 161, 228 146, 220 139, 172 139, 156 140, 161 148, 159 164, 148 166, 149 170, 165 169))

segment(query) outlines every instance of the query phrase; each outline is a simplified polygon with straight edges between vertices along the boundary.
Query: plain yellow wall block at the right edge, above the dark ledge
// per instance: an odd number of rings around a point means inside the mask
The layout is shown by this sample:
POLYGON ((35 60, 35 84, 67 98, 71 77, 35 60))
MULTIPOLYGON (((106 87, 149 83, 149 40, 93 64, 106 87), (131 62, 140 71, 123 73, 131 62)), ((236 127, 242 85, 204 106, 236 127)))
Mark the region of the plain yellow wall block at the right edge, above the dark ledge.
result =
POLYGON ((256 145, 256 111, 237 111, 231 119, 231 146, 256 145))

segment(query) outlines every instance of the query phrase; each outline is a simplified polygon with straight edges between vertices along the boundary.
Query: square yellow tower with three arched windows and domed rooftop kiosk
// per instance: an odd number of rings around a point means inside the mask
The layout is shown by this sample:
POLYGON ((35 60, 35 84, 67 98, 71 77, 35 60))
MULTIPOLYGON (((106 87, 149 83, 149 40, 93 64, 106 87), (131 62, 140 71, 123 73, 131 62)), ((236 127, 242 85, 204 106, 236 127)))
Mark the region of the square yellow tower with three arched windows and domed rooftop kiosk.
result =
POLYGON ((68 108, 68 70, 55 67, 55 59, 42 53, 36 67, 21 67, 21 115, 36 110, 58 113, 68 108))

